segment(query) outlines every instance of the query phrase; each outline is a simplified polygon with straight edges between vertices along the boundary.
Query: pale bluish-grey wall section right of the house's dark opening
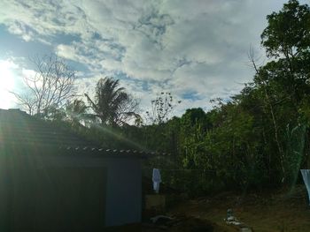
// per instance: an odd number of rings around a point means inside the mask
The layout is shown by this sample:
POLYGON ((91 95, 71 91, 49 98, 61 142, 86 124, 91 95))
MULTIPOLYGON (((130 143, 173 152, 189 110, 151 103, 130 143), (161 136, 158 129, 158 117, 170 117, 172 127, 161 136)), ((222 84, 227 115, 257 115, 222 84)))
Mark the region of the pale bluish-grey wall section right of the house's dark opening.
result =
POLYGON ((108 159, 105 225, 141 222, 142 177, 139 160, 108 159))

